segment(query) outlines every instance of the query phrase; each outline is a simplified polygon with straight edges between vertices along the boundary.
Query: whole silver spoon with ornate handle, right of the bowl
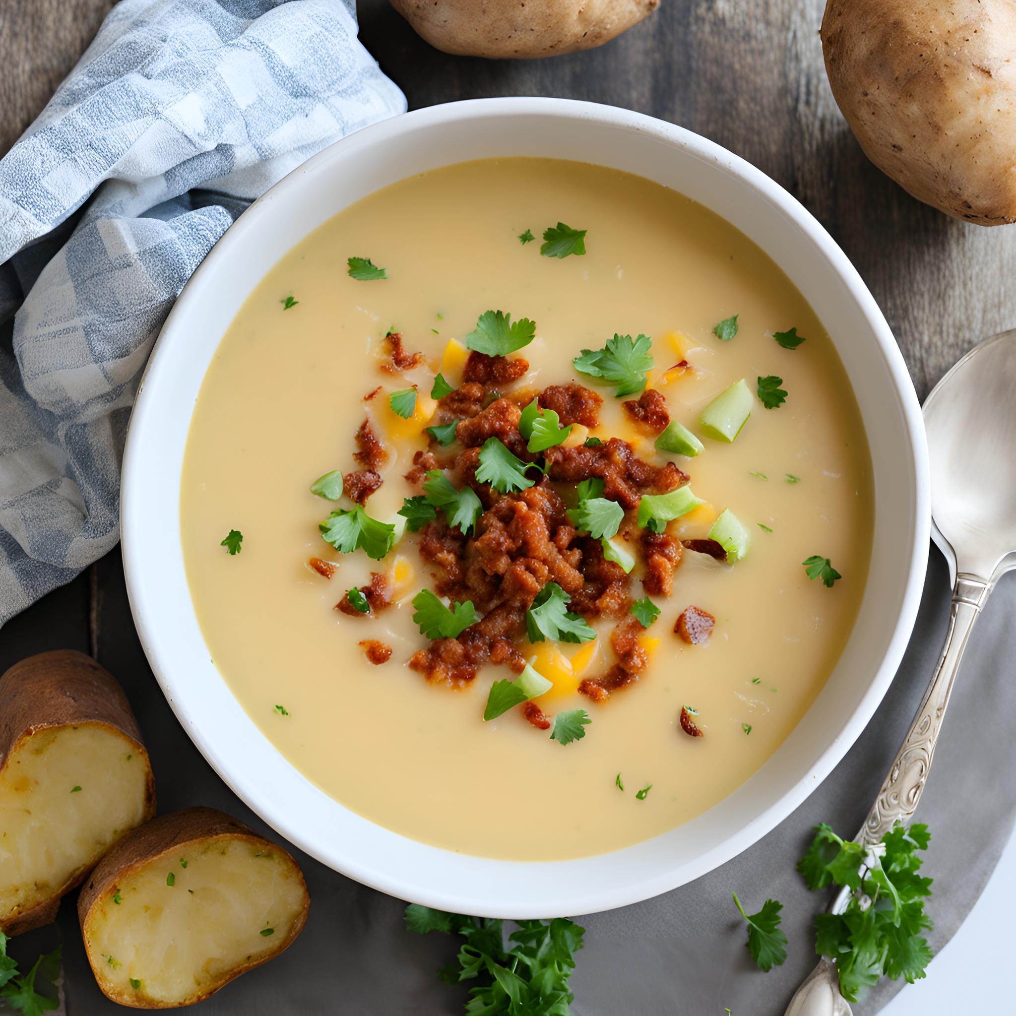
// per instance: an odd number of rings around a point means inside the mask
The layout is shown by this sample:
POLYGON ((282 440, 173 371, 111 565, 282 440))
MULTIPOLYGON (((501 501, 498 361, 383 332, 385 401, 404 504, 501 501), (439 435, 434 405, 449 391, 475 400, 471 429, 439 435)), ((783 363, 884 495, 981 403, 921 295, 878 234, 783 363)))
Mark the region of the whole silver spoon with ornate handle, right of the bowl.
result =
MULTIPOLYGON (((949 562, 952 610, 935 675, 879 790, 861 843, 913 815, 966 641, 995 583, 1016 568, 1016 329, 975 345, 925 402, 932 464, 932 536, 949 562)), ((830 906, 849 901, 842 891, 830 906)), ((823 957, 786 1016, 850 1016, 836 965, 823 957)))

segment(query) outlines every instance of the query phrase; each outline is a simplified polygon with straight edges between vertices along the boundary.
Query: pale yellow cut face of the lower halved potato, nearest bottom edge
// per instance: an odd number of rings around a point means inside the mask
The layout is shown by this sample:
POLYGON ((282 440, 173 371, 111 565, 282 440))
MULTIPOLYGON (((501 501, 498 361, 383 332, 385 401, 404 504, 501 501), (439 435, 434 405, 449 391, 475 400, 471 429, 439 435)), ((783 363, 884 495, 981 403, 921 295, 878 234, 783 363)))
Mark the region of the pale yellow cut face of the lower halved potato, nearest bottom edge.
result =
POLYGON ((116 993, 180 1003, 273 952, 303 908, 303 879, 287 858, 219 836, 164 853, 111 889, 86 922, 88 954, 116 993))

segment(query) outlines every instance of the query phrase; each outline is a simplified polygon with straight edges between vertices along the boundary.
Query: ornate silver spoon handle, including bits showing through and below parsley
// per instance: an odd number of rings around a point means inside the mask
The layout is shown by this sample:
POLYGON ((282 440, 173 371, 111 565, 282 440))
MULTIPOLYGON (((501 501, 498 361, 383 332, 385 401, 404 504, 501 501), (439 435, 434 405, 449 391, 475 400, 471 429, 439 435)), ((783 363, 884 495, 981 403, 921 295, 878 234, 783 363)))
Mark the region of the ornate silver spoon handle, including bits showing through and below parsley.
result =
MULTIPOLYGON (((966 640, 993 587, 994 582, 986 582, 976 575, 961 573, 956 576, 949 630, 935 675, 920 700, 903 745, 889 767, 882 789, 858 833, 858 842, 877 843, 894 823, 906 823, 916 810, 928 781, 939 729, 949 705, 949 695, 963 658, 966 640)), ((849 898, 850 890, 844 887, 829 910, 839 913, 849 898)), ((823 956, 808 979, 795 992, 785 1016, 850 1016, 850 1007, 839 994, 836 966, 823 956)))

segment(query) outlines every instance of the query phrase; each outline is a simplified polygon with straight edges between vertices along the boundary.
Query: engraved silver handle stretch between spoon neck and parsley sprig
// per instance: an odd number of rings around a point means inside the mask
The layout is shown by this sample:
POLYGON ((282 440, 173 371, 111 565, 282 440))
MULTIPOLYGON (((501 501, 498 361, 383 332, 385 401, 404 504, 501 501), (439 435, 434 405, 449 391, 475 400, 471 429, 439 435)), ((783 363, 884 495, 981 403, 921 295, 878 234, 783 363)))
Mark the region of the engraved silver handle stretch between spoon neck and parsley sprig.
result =
POLYGON ((976 575, 956 576, 949 630, 935 676, 889 768, 882 789, 861 827, 859 842, 877 843, 894 823, 906 824, 916 810, 928 781, 928 770, 932 767, 935 745, 967 638, 991 591, 991 584, 976 575))

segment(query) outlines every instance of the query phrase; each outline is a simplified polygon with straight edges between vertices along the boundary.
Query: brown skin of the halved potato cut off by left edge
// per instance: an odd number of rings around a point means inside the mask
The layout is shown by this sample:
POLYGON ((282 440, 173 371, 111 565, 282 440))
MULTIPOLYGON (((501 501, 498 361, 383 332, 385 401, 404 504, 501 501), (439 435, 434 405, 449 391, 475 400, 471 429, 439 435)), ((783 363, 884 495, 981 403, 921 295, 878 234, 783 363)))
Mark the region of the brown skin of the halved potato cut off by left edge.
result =
MULTIPOLYGON (((151 818, 155 814, 155 780, 127 696, 109 671, 73 649, 28 656, 0 677, 0 775, 14 750, 34 735, 85 724, 115 729, 133 746, 147 771, 144 820, 151 818)), ((14 936, 50 924, 60 898, 87 874, 85 866, 55 896, 29 910, 0 917, 0 932, 14 936)))

